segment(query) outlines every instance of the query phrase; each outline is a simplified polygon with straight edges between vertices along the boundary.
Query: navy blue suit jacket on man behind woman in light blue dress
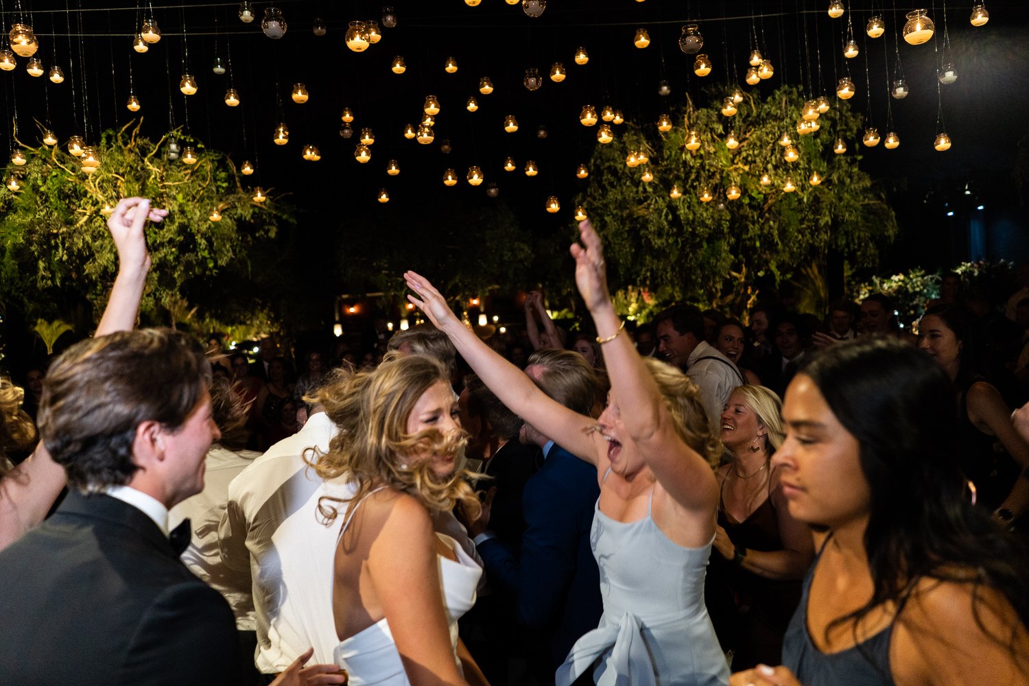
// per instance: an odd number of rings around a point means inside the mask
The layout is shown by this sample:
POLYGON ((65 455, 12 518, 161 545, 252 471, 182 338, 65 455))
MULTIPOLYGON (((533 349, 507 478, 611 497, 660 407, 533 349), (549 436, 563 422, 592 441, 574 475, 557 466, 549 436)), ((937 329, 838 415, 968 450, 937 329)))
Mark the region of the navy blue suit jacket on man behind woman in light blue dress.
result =
POLYGON ((597 627, 603 610, 590 547, 599 497, 597 468, 555 445, 525 485, 521 556, 497 539, 478 546, 490 581, 510 595, 518 621, 549 638, 554 667, 597 627))

